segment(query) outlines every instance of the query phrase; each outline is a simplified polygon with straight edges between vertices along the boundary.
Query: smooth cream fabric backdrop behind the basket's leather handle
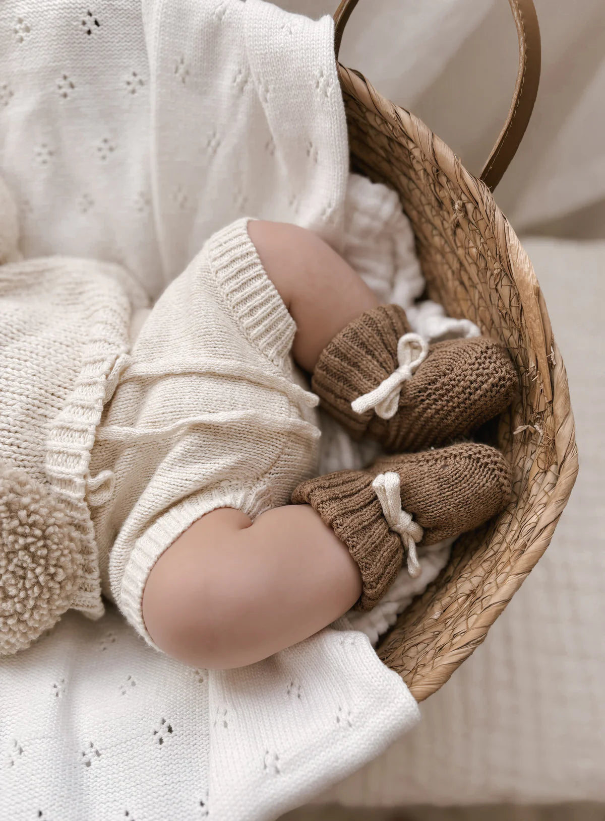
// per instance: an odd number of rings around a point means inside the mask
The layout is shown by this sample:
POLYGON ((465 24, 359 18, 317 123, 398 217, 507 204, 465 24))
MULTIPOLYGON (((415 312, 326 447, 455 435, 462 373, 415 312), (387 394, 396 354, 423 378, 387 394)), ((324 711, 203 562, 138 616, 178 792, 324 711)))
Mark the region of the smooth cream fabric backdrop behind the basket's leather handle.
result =
MULTIPOLYGON (((534 0, 542 76, 532 121, 496 192, 517 233, 605 237, 605 2, 534 0)), ((338 0, 279 0, 310 16, 338 0)), ((418 114, 478 173, 515 86, 506 0, 359 0, 340 60, 418 114)))

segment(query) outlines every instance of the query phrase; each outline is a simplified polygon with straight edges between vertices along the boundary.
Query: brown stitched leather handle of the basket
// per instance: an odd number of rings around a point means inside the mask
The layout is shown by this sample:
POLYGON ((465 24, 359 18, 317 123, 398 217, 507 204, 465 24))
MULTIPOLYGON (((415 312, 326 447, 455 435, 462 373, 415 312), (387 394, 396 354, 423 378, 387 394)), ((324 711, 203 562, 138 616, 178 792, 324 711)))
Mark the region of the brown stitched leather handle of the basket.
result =
MULTIPOLYGON (((492 153, 479 177, 493 191, 509 167, 523 139, 538 94, 540 80, 540 30, 532 0, 509 0, 519 37, 519 71, 510 111, 492 153)), ((335 54, 338 59, 344 26, 358 0, 342 0, 335 11, 335 54)))

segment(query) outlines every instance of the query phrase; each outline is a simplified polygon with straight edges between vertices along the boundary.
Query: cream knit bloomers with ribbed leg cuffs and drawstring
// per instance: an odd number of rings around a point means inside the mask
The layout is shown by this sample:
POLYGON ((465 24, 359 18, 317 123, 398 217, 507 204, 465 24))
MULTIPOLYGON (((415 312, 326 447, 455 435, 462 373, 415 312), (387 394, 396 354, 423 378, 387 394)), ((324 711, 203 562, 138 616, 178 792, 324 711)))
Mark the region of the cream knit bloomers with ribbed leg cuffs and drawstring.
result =
POLYGON ((91 453, 102 589, 154 647, 141 601, 161 553, 217 507, 254 519, 288 504, 317 470, 318 400, 247 222, 212 236, 150 310, 91 453))

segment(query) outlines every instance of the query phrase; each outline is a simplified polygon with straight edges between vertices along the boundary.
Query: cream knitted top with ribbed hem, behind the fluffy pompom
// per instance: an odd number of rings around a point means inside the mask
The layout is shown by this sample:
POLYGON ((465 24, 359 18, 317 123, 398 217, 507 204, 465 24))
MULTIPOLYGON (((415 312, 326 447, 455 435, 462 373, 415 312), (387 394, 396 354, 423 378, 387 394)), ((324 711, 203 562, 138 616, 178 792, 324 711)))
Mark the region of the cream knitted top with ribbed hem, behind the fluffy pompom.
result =
POLYGON ((0 274, 0 459, 48 483, 73 517, 84 561, 72 606, 98 618, 90 450, 142 296, 120 268, 88 259, 31 259, 0 274))

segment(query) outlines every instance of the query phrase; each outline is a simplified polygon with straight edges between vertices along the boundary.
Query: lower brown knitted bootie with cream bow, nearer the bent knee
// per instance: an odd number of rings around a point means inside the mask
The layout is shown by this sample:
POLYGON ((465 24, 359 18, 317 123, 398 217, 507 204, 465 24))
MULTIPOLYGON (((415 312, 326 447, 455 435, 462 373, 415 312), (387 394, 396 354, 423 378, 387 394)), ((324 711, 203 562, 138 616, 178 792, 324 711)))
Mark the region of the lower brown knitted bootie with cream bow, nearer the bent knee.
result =
POLYGON ((298 485, 294 504, 310 504, 357 562, 363 591, 355 610, 371 610, 408 553, 411 576, 417 545, 473 530, 510 498, 510 465, 488 445, 386 456, 367 470, 339 470, 298 485))

